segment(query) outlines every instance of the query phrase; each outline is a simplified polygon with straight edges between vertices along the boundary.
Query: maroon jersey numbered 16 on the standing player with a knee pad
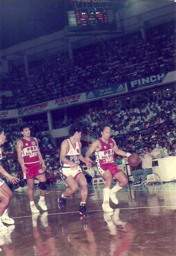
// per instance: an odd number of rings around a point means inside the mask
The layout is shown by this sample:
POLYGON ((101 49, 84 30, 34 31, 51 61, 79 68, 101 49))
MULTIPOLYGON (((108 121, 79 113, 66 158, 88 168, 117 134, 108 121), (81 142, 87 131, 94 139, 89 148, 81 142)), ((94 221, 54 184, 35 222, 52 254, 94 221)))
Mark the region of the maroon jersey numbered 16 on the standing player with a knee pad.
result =
POLYGON ((30 137, 30 141, 21 139, 23 142, 22 158, 24 163, 37 163, 39 162, 39 156, 37 151, 37 143, 33 137, 30 137))

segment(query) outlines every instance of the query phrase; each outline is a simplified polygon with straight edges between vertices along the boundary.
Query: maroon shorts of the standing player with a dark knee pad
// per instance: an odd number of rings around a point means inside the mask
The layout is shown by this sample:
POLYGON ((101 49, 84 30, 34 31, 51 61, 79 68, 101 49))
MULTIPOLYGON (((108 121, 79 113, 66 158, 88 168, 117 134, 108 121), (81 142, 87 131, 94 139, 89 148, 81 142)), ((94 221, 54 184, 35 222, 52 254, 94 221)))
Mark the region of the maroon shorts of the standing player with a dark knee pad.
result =
POLYGON ((45 172, 42 170, 42 166, 40 163, 26 163, 25 167, 27 168, 26 170, 26 175, 24 174, 24 179, 30 179, 34 178, 35 176, 45 174, 45 172))

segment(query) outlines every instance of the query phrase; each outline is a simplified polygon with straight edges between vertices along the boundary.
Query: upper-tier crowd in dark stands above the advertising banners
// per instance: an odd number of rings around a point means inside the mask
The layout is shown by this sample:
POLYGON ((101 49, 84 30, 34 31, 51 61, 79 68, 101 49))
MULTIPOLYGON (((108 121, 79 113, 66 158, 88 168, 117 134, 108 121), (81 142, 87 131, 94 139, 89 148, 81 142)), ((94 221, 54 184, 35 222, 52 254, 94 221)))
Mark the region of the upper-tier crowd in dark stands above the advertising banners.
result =
POLYGON ((75 49, 74 63, 67 53, 46 56, 29 63, 29 77, 24 65, 13 67, 1 80, 3 90, 13 92, 12 97, 3 95, 2 109, 174 71, 174 27, 170 22, 146 29, 146 39, 134 32, 75 49))

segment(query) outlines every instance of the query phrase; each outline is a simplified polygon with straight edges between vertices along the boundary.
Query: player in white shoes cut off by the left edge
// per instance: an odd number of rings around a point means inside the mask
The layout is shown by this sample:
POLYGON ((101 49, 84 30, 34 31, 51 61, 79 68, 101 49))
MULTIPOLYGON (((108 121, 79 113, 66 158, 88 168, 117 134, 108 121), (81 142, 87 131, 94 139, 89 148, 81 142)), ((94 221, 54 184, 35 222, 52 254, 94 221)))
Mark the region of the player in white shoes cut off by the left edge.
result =
MULTIPOLYGON (((3 129, 0 127, 0 146, 4 144, 6 136, 4 135, 3 129)), ((2 159, 2 152, 0 148, 0 160, 2 159)), ((7 177, 13 184, 17 184, 18 178, 11 176, 6 172, 3 166, 0 165, 0 173, 7 177)), ((0 178, 0 231, 7 230, 7 227, 3 224, 14 224, 14 220, 8 215, 8 205, 13 197, 13 193, 7 184, 0 178)))

